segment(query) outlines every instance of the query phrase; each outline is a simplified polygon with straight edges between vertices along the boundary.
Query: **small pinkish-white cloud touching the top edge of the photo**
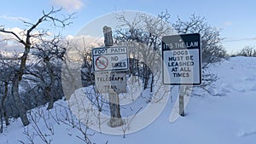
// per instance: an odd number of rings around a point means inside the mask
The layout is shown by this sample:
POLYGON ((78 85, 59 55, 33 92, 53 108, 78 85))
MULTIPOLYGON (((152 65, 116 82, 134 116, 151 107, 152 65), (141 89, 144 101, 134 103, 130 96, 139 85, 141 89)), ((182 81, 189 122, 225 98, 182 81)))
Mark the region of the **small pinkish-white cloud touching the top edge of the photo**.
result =
POLYGON ((82 0, 51 0, 55 5, 60 6, 67 11, 79 10, 84 6, 82 0))

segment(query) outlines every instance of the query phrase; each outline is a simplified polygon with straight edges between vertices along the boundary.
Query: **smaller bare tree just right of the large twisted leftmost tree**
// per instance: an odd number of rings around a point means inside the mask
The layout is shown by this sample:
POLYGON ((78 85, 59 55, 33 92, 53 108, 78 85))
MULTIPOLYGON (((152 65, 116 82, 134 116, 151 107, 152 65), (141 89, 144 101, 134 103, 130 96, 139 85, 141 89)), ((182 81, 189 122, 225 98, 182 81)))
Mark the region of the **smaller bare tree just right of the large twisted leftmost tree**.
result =
MULTIPOLYGON (((61 81, 61 77, 58 76, 57 66, 61 66, 61 60, 63 60, 66 52, 67 44, 61 41, 61 36, 55 36, 50 40, 44 40, 40 37, 40 42, 34 46, 33 55, 37 55, 39 60, 42 61, 42 65, 46 67, 47 78, 44 76, 38 76, 44 83, 44 95, 49 101, 47 109, 51 109, 54 105, 54 95, 58 94, 58 89, 55 88, 55 83, 61 81), (55 72, 57 71, 57 72, 55 72)), ((60 72, 59 72, 60 73, 60 72)), ((61 82, 60 82, 61 83, 61 82)))

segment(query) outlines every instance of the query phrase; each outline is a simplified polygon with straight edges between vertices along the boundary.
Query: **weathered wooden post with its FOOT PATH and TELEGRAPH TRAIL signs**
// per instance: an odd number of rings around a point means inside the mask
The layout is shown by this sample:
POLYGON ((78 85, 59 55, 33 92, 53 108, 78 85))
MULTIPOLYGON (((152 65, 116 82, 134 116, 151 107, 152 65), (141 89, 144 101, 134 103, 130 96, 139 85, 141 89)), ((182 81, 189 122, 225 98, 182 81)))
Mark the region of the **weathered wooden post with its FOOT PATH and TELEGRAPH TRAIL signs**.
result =
POLYGON ((105 47, 92 50, 96 92, 108 93, 111 118, 110 127, 123 125, 119 108, 119 93, 126 92, 126 72, 129 68, 127 48, 113 47, 111 27, 104 26, 105 47))

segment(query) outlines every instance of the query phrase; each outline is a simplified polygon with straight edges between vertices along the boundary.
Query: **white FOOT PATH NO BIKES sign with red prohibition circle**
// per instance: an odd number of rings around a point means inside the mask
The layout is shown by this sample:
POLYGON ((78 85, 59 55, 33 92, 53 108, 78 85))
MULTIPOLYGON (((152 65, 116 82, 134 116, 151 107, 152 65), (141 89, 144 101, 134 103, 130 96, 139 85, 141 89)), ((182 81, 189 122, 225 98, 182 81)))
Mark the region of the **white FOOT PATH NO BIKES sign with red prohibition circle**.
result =
POLYGON ((92 59, 95 72, 126 71, 129 68, 127 48, 124 46, 92 49, 92 59))

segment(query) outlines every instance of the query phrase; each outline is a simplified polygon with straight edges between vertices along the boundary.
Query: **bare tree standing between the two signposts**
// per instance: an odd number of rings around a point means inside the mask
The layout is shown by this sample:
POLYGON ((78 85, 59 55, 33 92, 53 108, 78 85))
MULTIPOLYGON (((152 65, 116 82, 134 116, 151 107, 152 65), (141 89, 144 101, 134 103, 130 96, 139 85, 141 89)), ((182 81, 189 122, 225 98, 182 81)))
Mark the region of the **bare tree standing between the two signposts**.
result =
POLYGON ((154 66, 160 66, 160 38, 173 33, 172 26, 167 22, 169 18, 170 14, 167 12, 159 14, 157 18, 148 14, 136 14, 133 20, 122 14, 117 15, 120 25, 114 31, 115 43, 129 42, 130 72, 143 79, 144 89, 150 84, 150 89, 153 90, 152 71, 154 66))

